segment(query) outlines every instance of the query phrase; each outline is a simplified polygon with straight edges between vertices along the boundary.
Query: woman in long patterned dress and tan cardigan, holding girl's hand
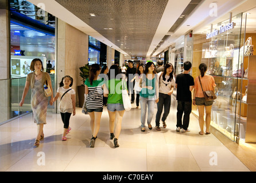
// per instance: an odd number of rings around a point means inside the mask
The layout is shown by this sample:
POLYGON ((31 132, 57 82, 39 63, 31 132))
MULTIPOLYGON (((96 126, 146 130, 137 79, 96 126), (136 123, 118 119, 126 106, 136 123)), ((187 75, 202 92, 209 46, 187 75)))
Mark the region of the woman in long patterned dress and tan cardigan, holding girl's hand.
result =
MULTIPOLYGON (((30 64, 30 70, 32 71, 32 73, 29 73, 26 77, 26 83, 22 94, 20 106, 24 104, 24 100, 30 86, 32 89, 31 106, 34 116, 34 122, 37 124, 37 137, 34 145, 38 146, 40 144, 40 140, 44 138, 43 128, 44 124, 46 124, 46 112, 48 106, 48 98, 44 94, 45 79, 47 80, 51 90, 52 82, 49 73, 45 73, 43 71, 44 67, 42 66, 41 59, 34 58, 30 64)), ((50 104, 53 104, 53 91, 50 104)))

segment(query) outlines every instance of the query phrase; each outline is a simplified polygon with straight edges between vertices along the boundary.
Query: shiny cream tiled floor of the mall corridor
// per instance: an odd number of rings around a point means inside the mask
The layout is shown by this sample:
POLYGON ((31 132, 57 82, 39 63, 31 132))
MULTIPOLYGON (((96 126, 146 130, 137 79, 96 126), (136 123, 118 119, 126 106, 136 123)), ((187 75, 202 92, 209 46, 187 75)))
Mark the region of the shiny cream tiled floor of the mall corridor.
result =
MULTIPOLYGON (((176 132, 176 106, 161 131, 140 130, 140 109, 125 112, 119 148, 114 148, 104 107, 95 148, 90 148, 90 117, 77 108, 71 117, 71 132, 61 141, 60 114, 47 114, 45 138, 33 146, 37 127, 32 114, 0 126, 0 171, 92 171, 92 172, 249 172, 214 136, 199 135, 198 120, 191 114, 191 132, 176 132)), ((155 109, 156 110, 156 109, 155 109)), ((156 111, 154 117, 156 116, 156 111)), ((154 118, 152 120, 154 127, 154 118)))

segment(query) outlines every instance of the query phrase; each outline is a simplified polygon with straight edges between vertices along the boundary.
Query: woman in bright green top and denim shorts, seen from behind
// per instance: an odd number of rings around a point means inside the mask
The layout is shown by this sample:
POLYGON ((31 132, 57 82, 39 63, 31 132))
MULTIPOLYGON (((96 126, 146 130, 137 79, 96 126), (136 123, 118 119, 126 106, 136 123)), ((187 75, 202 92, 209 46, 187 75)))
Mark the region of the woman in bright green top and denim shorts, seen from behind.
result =
MULTIPOLYGON (((125 84, 126 82, 123 83, 125 84)), ((113 140, 113 138, 115 137, 114 146, 115 148, 118 148, 118 137, 121 132, 121 125, 123 114, 125 113, 125 108, 123 107, 122 98, 122 74, 120 68, 117 65, 112 65, 108 71, 108 81, 106 82, 106 84, 104 84, 104 97, 108 97, 107 112, 109 115, 110 139, 113 140), (117 121, 115 125, 116 115, 117 121)))

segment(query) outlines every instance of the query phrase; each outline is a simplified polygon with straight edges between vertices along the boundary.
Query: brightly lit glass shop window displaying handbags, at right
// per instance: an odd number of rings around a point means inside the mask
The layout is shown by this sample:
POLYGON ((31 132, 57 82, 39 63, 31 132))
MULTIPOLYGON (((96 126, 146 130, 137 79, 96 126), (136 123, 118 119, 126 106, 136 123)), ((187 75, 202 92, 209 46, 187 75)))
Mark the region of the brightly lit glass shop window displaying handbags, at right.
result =
MULTIPOLYGON (((239 133, 241 93, 245 92, 243 54, 241 45, 242 14, 220 22, 207 30, 207 35, 194 35, 193 77, 199 75, 198 66, 205 63, 207 74, 214 77, 217 99, 212 105, 211 126, 235 141, 239 133), (206 37, 206 38, 205 38, 206 37)), ((197 114, 197 109, 193 108, 197 114)))

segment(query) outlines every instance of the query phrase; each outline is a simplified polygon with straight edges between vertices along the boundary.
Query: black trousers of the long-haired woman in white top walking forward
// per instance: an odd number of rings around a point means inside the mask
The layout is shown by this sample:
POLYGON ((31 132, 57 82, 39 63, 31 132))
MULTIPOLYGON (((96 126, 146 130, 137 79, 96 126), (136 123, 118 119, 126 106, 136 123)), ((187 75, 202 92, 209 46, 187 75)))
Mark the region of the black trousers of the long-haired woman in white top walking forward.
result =
POLYGON ((159 93, 159 101, 157 103, 156 114, 156 126, 160 125, 160 117, 162 114, 162 108, 164 108, 164 114, 162 115, 162 121, 165 122, 170 112, 170 96, 168 94, 159 93))

